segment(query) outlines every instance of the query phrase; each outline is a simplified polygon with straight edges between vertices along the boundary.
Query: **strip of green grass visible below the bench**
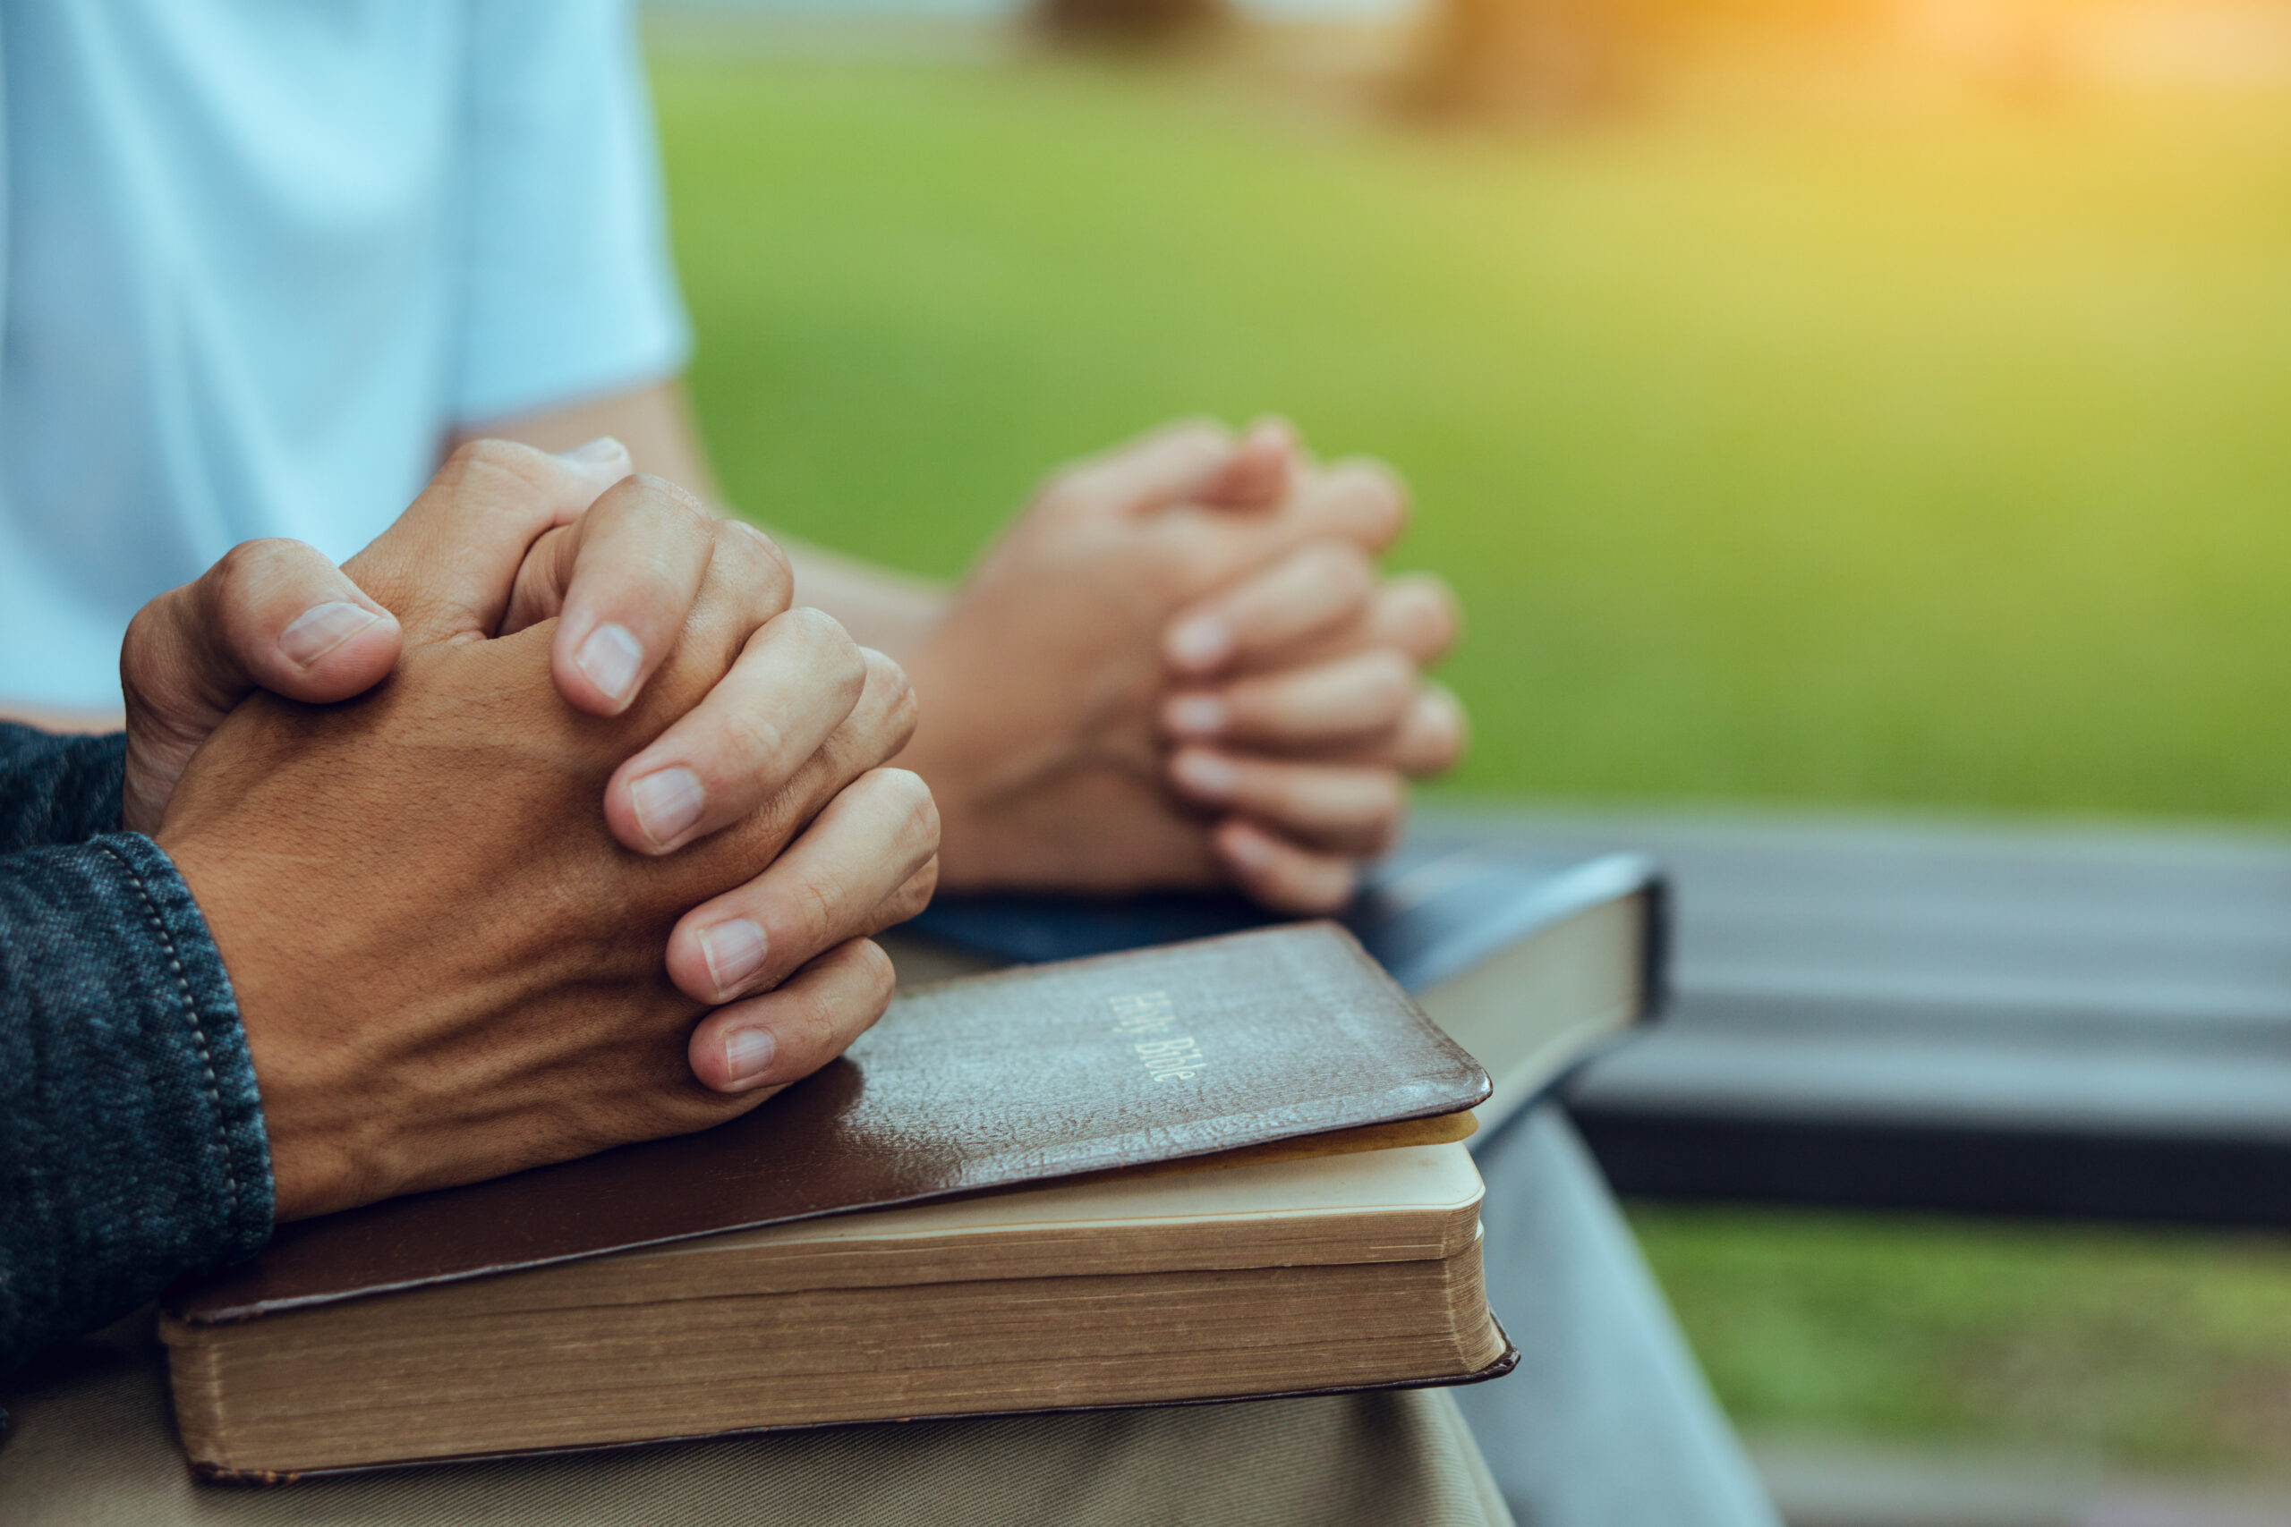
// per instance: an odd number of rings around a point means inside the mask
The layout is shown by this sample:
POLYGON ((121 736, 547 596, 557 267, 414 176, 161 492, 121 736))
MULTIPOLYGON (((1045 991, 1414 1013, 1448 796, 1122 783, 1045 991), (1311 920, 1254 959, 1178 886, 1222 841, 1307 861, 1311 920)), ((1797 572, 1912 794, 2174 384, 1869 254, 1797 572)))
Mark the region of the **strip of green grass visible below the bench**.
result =
POLYGON ((2282 1236, 1709 1209, 1633 1225, 1743 1426, 2291 1461, 2282 1236))

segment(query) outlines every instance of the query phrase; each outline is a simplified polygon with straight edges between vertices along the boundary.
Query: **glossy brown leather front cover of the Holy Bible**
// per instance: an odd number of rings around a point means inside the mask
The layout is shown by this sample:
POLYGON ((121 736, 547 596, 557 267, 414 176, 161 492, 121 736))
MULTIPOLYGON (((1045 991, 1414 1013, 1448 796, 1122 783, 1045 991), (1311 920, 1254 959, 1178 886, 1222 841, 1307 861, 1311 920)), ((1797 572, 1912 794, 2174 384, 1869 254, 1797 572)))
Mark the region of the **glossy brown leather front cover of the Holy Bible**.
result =
POLYGON ((1448 1115, 1487 1074, 1333 923, 926 987, 754 1113, 282 1225, 183 1321, 1448 1115))

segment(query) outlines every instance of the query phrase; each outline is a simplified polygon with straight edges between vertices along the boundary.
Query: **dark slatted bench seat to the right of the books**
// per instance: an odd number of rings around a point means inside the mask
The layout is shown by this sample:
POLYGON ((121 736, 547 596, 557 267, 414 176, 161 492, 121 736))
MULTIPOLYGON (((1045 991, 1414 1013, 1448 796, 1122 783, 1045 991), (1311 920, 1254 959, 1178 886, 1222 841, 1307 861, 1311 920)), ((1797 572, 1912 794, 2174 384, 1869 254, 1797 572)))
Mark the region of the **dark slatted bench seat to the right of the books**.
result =
POLYGON ((2291 1225, 2291 842, 1425 813, 1640 849, 1666 1019, 1567 1106, 1620 1193, 2291 1225))

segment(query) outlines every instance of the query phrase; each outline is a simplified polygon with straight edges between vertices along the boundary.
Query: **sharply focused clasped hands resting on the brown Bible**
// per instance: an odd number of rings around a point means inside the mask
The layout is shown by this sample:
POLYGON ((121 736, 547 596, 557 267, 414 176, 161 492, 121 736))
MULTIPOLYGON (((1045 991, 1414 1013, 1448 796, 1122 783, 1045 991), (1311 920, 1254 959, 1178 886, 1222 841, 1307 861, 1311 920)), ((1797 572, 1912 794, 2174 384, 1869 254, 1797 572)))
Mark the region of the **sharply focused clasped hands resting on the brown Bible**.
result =
POLYGON ((128 824, 222 950, 280 1218, 706 1129, 889 1003, 907 680, 625 465, 479 442, 339 572, 252 543, 131 630, 128 824))

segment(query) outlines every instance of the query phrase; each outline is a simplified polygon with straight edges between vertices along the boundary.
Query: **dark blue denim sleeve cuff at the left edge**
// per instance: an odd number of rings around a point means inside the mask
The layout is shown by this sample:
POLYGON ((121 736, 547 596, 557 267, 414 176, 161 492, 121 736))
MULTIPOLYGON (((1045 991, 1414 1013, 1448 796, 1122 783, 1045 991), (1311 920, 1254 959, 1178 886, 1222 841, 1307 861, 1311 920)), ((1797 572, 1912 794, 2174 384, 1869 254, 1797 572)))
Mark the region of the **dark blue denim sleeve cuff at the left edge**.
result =
POLYGON ((121 739, 0 726, 0 1371, 270 1239, 270 1142, 121 739))

